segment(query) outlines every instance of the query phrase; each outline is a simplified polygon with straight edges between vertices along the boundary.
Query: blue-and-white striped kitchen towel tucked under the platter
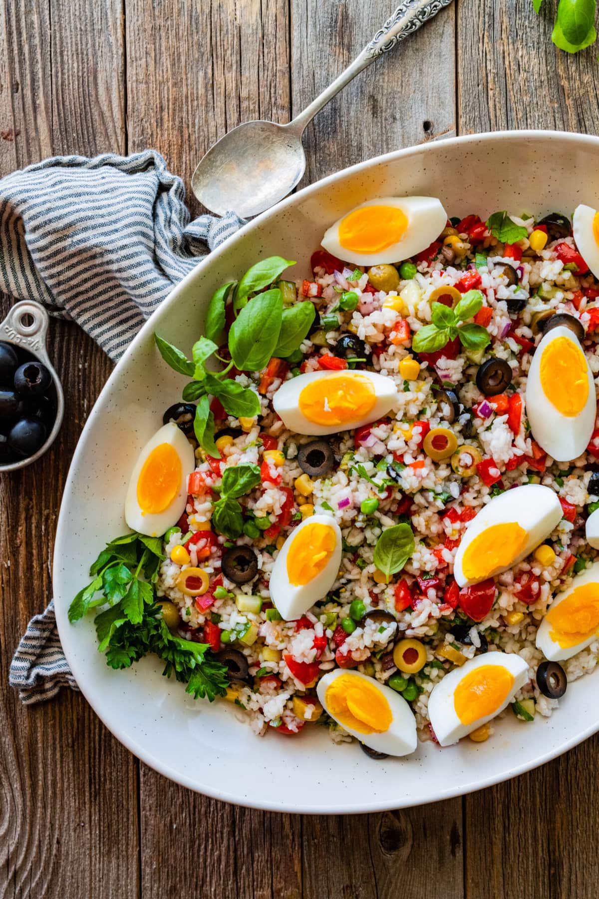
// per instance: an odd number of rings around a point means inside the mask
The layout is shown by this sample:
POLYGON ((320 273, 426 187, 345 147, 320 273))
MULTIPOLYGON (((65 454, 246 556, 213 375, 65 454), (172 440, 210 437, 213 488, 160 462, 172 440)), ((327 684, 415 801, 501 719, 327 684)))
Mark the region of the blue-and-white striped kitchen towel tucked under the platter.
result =
MULTIPOLYGON (((0 289, 75 319, 118 360, 198 259, 244 224, 190 220, 181 178, 155 150, 56 156, 0 180, 0 289)), ((23 703, 77 690, 54 602, 31 619, 9 682, 23 703)))

